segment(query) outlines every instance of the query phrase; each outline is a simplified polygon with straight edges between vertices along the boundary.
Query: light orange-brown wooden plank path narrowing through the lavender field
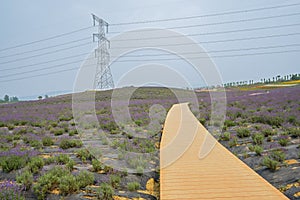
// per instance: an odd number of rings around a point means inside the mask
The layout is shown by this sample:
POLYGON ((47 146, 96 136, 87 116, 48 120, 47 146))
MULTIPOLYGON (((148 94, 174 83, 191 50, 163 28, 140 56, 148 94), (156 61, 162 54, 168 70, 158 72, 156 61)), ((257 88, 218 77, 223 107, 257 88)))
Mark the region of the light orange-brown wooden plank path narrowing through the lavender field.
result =
POLYGON ((194 117, 188 104, 171 108, 161 141, 162 200, 288 199, 217 141, 209 154, 200 159, 206 137, 213 144, 212 136, 194 117), (189 135, 193 133, 195 136, 189 135))

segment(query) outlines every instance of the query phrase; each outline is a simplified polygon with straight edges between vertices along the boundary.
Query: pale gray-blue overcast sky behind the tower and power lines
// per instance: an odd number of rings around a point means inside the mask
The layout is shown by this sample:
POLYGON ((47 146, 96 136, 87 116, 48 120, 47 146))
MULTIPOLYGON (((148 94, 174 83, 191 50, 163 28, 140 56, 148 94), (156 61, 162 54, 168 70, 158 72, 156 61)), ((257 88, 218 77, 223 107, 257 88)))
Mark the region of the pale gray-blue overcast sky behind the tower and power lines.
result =
MULTIPOLYGON (((0 49, 7 47, 44 39, 53 35, 58 35, 70 32, 76 29, 84 28, 92 25, 90 14, 95 13, 100 18, 105 19, 111 24, 121 22, 156 20, 165 18, 177 18, 194 15, 205 15, 211 13, 219 13, 224 11, 245 10, 258 7, 266 7, 273 5, 298 3, 297 0, 282 1, 282 0, 128 0, 128 1, 92 1, 92 0, 3 0, 0 6, 0 49)), ((260 12, 248 12, 242 14, 205 17, 190 20, 178 20, 160 23, 127 25, 127 26, 111 26, 109 32, 123 32, 137 28, 168 28, 184 25, 207 24, 215 22, 232 21, 239 19, 249 19, 257 17, 266 17, 274 15, 284 15, 290 13, 300 12, 300 6, 264 10, 260 12)), ((265 19, 252 22, 219 24, 210 26, 199 26, 194 28, 175 29, 182 34, 197 34, 207 32, 219 32, 235 29, 247 29, 264 26, 276 26, 283 24, 299 23, 300 15, 291 17, 281 17, 275 19, 265 19)), ((50 48, 22 55, 15 55, 5 57, 13 54, 18 54, 26 51, 53 46, 64 42, 78 40, 89 37, 96 29, 91 28, 75 34, 67 35, 53 40, 47 40, 20 48, 0 51, 0 98, 5 94, 10 96, 18 96, 25 99, 25 97, 36 98, 38 95, 54 94, 55 91, 71 91, 74 80, 76 78, 76 70, 61 72, 59 74, 52 74, 48 76, 38 76, 39 74, 51 73, 58 70, 70 69, 80 67, 81 63, 62 65, 65 63, 82 60, 87 55, 78 56, 76 58, 65 59, 48 64, 36 65, 36 63, 47 62, 53 59, 74 56, 92 52, 96 44, 88 44, 82 47, 72 48, 69 50, 59 51, 48 54, 47 52, 71 47, 74 45, 84 44, 90 42, 91 39, 83 40, 77 43, 72 43, 57 48, 50 48), (46 53, 44 56, 33 57, 15 61, 16 59, 34 56, 36 54, 46 53), (13 62, 12 62, 13 61, 13 62), (19 68, 22 66, 26 66, 19 68), (28 66, 33 65, 33 66, 28 66), (55 66, 52 69, 41 70, 41 68, 55 66), (61 66, 59 66, 61 65, 61 66), (19 69, 12 69, 19 68, 19 69), (3 70, 4 69, 4 70, 3 70), (2 71, 1 71, 2 70, 2 71), (35 71, 41 70, 41 71, 35 71), (32 71, 32 72, 30 72, 32 71), (27 76, 37 76, 29 79, 22 79, 27 76), (12 79, 20 79, 14 80, 12 79)), ((300 26, 291 26, 277 29, 266 29, 258 31, 237 32, 227 34, 212 34, 193 36, 196 42, 212 41, 212 40, 229 40, 245 37, 260 37, 274 34, 290 34, 300 32, 300 26)), ((108 38, 112 39, 114 34, 108 34, 108 38)), ((134 42, 131 42, 134 45, 134 42)), ((288 37, 265 38, 249 41, 232 41, 219 43, 202 43, 200 44, 206 51, 216 51, 224 49, 241 49, 241 48, 256 48, 264 46, 279 46, 300 44, 300 35, 288 37)), ((112 44, 118 46, 119 44, 112 44)), ((251 54, 261 52, 274 52, 286 50, 300 50, 300 46, 258 49, 252 51, 236 51, 226 53, 211 53, 212 56, 219 55, 234 55, 234 54, 251 54)), ((151 52, 150 53, 157 53, 151 52)), ((148 52, 148 53, 149 53, 148 52)), ((142 53, 145 53, 142 51, 142 53)), ((243 56, 243 57, 229 57, 229 58, 213 58, 213 62, 220 71, 221 77, 224 81, 242 81, 242 80, 260 80, 261 78, 272 78, 276 75, 286 75, 290 73, 299 73, 300 52, 270 54, 259 56, 243 56)), ((136 53, 137 55, 140 53, 136 53)), ((164 57, 160 57, 164 58, 164 57)), ((176 58, 176 57, 167 57, 176 58)), ((125 58, 124 58, 125 59, 125 58)), ((131 58, 126 58, 131 59, 131 58)), ((134 58, 133 58, 134 59, 134 58)), ((83 63, 83 62, 82 62, 83 63)), ((189 80, 193 87, 203 85, 201 77, 195 76, 191 66, 183 61, 160 61, 156 62, 162 65, 173 66, 174 69, 184 74, 185 78, 189 80)), ((115 63, 112 65, 112 74, 114 80, 117 81, 126 72, 135 66, 145 64, 145 62, 125 62, 115 63)), ((147 64, 147 63, 146 63, 147 64)), ((145 75, 147 76, 147 75, 145 75)), ((167 78, 168 77, 166 74, 167 78)), ((205 78, 205 77, 204 77, 205 78)))

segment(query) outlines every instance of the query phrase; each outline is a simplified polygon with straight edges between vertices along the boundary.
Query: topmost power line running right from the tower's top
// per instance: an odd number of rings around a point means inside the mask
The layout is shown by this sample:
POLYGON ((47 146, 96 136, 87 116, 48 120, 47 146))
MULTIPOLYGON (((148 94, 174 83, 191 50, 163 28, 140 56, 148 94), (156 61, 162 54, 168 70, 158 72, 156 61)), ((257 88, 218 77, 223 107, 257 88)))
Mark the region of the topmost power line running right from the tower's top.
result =
POLYGON ((157 20, 144 20, 144 21, 135 21, 135 22, 113 23, 113 24, 110 24, 110 26, 121 26, 121 25, 131 25, 131 24, 145 24, 145 23, 156 23, 156 22, 166 22, 166 21, 177 21, 177 20, 186 20, 186 19, 194 19, 194 18, 202 18, 202 17, 215 17, 215 16, 232 15, 232 14, 239 14, 239 13, 249 13, 249 12, 256 12, 256 11, 263 11, 263 10, 272 10, 272 9, 278 9, 278 8, 287 8, 287 7, 294 7, 294 6, 299 6, 299 5, 300 5, 300 3, 294 3, 294 4, 286 4, 286 5, 278 5, 278 6, 247 9, 247 10, 226 11, 226 12, 206 14, 206 15, 196 15, 196 16, 157 19, 157 20))

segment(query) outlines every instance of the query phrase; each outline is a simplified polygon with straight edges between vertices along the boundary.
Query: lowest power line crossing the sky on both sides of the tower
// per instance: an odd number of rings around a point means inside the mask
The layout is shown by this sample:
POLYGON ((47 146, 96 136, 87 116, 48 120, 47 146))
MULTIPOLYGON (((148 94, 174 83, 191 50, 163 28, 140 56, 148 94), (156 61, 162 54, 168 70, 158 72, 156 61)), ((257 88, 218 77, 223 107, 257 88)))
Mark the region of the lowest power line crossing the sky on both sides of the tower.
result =
MULTIPOLYGON (((291 52, 300 52, 300 49, 299 50, 286 50, 286 51, 251 53, 251 54, 234 54, 234 55, 210 56, 209 58, 234 58, 234 57, 255 56, 255 55, 272 55, 272 54, 291 53, 291 52)), ((191 58, 187 58, 187 59, 202 59, 202 58, 207 59, 208 57, 191 57, 191 58)), ((145 61, 146 62, 146 61, 171 61, 171 60, 182 60, 182 58, 149 59, 149 60, 123 60, 123 61, 116 61, 116 62, 140 62, 140 61, 145 61)), ((88 67, 88 66, 94 66, 94 65, 85 65, 84 67, 88 67)), ((79 69, 80 68, 76 67, 76 68, 60 70, 60 71, 56 71, 56 72, 32 75, 32 76, 21 77, 21 78, 16 78, 16 79, 2 80, 2 81, 0 81, 0 83, 24 80, 24 79, 40 77, 40 76, 48 76, 48 75, 52 75, 52 74, 58 74, 58 73, 67 72, 67 71, 75 71, 75 70, 79 70, 79 69)))

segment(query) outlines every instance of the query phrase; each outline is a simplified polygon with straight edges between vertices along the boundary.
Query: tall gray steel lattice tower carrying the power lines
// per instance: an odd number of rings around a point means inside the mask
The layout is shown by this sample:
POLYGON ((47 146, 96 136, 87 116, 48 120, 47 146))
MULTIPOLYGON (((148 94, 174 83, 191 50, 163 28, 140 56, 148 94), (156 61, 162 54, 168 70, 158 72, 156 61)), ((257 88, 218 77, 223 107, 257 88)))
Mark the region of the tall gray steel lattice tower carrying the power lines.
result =
POLYGON ((98 26, 98 33, 93 34, 93 41, 98 39, 98 48, 95 50, 97 58, 97 67, 94 81, 94 89, 109 89, 114 88, 114 81, 110 71, 109 61, 110 56, 108 48, 109 40, 105 37, 105 29, 108 31, 108 23, 103 19, 92 14, 93 25, 98 26))

